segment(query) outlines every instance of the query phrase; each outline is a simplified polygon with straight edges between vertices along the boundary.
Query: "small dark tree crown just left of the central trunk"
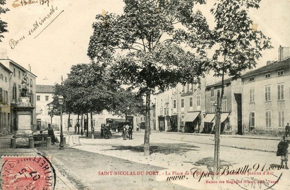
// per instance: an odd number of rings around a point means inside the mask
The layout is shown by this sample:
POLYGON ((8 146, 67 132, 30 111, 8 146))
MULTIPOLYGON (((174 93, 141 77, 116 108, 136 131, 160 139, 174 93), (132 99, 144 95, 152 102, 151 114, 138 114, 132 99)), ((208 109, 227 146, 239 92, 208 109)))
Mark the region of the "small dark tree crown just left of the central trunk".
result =
POLYGON ((131 89, 120 89, 114 98, 114 114, 126 118, 128 115, 144 114, 145 107, 143 97, 131 91, 131 89))

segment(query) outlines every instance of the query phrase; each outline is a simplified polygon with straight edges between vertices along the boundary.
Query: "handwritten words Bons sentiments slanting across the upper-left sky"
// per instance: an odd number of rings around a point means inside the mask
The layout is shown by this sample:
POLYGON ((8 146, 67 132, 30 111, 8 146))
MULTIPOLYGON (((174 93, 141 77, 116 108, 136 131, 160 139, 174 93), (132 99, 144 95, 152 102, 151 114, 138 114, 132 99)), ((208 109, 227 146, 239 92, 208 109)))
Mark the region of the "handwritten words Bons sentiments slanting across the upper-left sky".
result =
MULTIPOLYGON (((37 31, 37 29, 40 26, 42 26, 44 23, 46 23, 48 18, 50 16, 52 16, 55 13, 56 10, 57 10, 57 6, 55 8, 53 6, 51 6, 50 12, 46 16, 44 16, 42 18, 39 18, 39 20, 35 20, 35 22, 33 24, 33 27, 28 30, 28 35, 27 36, 32 35, 33 32, 37 31)), ((9 40, 9 46, 11 47, 11 49, 14 49, 18 45, 18 43, 20 43, 24 39, 26 39, 24 35, 22 37, 20 37, 19 39, 16 39, 16 40, 11 38, 9 40)))

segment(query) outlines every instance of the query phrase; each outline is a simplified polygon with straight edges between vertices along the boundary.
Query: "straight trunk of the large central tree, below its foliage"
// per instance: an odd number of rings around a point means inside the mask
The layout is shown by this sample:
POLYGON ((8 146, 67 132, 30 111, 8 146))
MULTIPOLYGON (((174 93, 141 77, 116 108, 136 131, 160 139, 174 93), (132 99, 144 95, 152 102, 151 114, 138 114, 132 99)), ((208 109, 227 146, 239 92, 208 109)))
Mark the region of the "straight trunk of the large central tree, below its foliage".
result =
POLYGON ((146 92, 144 156, 150 156, 150 91, 146 92))

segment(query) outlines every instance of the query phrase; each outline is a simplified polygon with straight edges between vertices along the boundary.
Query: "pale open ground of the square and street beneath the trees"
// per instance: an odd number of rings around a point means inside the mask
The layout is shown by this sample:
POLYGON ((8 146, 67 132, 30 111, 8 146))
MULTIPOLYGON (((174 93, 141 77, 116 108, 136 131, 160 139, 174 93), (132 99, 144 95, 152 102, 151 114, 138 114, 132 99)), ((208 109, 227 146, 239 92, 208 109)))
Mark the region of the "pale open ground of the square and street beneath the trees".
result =
MULTIPOLYGON (((144 157, 144 132, 134 133, 133 140, 123 140, 120 133, 113 133, 110 139, 100 139, 98 135, 99 132, 96 132, 96 139, 81 138, 80 145, 66 146, 64 151, 59 151, 58 146, 37 148, 37 151, 51 157, 52 164, 59 174, 62 174, 63 181, 66 183, 69 181, 69 187, 76 189, 202 189, 205 187, 204 182, 198 183, 196 179, 166 182, 165 172, 184 173, 195 167, 205 171, 213 166, 213 136, 152 132, 150 157, 144 157), (114 172, 118 173, 114 174, 114 172), (148 175, 130 175, 131 172, 145 172, 148 175)), ((8 143, 8 140, 9 138, 6 138, 5 143, 8 143)), ((220 165, 238 167, 280 164, 280 157, 272 152, 275 151, 278 143, 278 140, 222 136, 220 165), (250 148, 257 150, 244 150, 247 148, 247 142, 251 142, 250 148)), ((8 152, 13 149, 2 147, 0 150, 1 155, 4 155, 3 151, 10 154, 8 152)), ((31 149, 13 151, 24 155, 35 153, 31 149)), ((289 171, 283 170, 283 173, 289 176, 289 171)), ((176 175, 178 174, 173 176, 176 175)), ((280 188, 290 189, 289 183, 284 181, 285 178, 280 179, 281 184, 286 184, 280 188)), ((60 187, 70 189, 61 180, 57 183, 61 185, 60 187)), ((206 187, 212 189, 209 185, 206 187)), ((233 186, 231 189, 234 189, 233 186)))

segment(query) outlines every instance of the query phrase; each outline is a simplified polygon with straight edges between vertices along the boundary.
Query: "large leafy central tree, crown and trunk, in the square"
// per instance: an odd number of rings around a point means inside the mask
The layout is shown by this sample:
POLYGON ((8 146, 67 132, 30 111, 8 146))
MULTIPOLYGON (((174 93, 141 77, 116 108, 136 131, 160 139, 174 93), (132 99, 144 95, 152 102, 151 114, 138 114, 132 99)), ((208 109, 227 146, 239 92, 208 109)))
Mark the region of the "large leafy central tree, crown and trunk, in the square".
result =
POLYGON ((145 95, 144 155, 149 156, 150 95, 178 82, 196 83, 205 60, 208 25, 196 3, 204 0, 124 0, 124 13, 98 14, 88 56, 111 64, 123 84, 145 95), (185 33, 191 33, 185 38, 185 33), (196 48, 185 51, 184 43, 196 48), (119 49, 119 50, 118 50, 119 49))

